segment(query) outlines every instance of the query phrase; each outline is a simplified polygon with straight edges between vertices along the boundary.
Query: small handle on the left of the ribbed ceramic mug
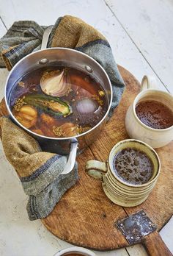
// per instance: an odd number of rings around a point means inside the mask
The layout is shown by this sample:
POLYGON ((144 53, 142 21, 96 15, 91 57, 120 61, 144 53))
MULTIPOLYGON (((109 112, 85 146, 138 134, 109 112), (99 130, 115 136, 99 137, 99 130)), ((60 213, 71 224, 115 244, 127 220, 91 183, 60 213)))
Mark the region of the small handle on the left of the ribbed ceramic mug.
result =
POLYGON ((102 180, 103 175, 108 171, 107 162, 89 160, 87 161, 85 171, 90 177, 102 180))

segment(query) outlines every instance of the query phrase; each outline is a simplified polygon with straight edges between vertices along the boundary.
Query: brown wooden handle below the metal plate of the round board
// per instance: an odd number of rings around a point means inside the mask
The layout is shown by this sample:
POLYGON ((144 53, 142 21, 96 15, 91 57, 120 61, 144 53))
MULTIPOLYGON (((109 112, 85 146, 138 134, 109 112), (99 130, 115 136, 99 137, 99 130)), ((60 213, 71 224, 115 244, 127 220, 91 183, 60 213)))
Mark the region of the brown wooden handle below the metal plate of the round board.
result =
POLYGON ((146 235, 142 243, 150 256, 172 256, 158 231, 146 235))

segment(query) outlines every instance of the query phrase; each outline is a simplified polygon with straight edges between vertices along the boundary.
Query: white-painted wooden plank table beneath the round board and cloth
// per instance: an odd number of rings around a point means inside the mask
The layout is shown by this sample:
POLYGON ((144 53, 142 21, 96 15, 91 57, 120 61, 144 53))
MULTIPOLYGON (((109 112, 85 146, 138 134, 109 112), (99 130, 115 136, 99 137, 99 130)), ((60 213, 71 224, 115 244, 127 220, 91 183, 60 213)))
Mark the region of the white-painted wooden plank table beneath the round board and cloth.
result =
MULTIPOLYGON (((54 24, 75 15, 95 26, 111 44, 115 60, 139 81, 144 74, 158 78, 158 87, 173 93, 173 1, 171 0, 0 0, 0 37, 14 21, 54 24)), ((0 69, 0 99, 8 71, 0 69)), ((27 198, 0 145, 0 255, 47 256, 71 246, 48 232, 40 220, 29 221, 27 198)), ((172 250, 171 224, 161 231, 172 250)), ((97 255, 144 256, 141 245, 97 255)))

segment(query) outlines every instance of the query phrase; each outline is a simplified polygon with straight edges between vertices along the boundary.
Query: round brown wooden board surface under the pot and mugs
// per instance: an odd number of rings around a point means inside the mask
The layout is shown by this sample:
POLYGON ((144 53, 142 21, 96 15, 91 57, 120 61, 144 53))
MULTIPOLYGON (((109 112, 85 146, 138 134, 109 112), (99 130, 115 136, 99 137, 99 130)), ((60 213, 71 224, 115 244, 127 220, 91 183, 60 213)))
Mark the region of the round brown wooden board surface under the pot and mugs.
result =
POLYGON ((52 213, 42 220, 45 227, 58 238, 90 249, 109 250, 128 246, 123 235, 114 227, 114 222, 120 218, 144 209, 160 230, 173 212, 173 143, 157 150, 161 158, 161 175, 148 199, 137 207, 114 205, 104 194, 101 182, 85 174, 87 160, 106 161, 112 146, 128 138, 125 113, 139 93, 140 85, 125 68, 119 66, 119 71, 126 84, 119 107, 100 138, 78 156, 79 179, 76 185, 65 193, 52 213))

